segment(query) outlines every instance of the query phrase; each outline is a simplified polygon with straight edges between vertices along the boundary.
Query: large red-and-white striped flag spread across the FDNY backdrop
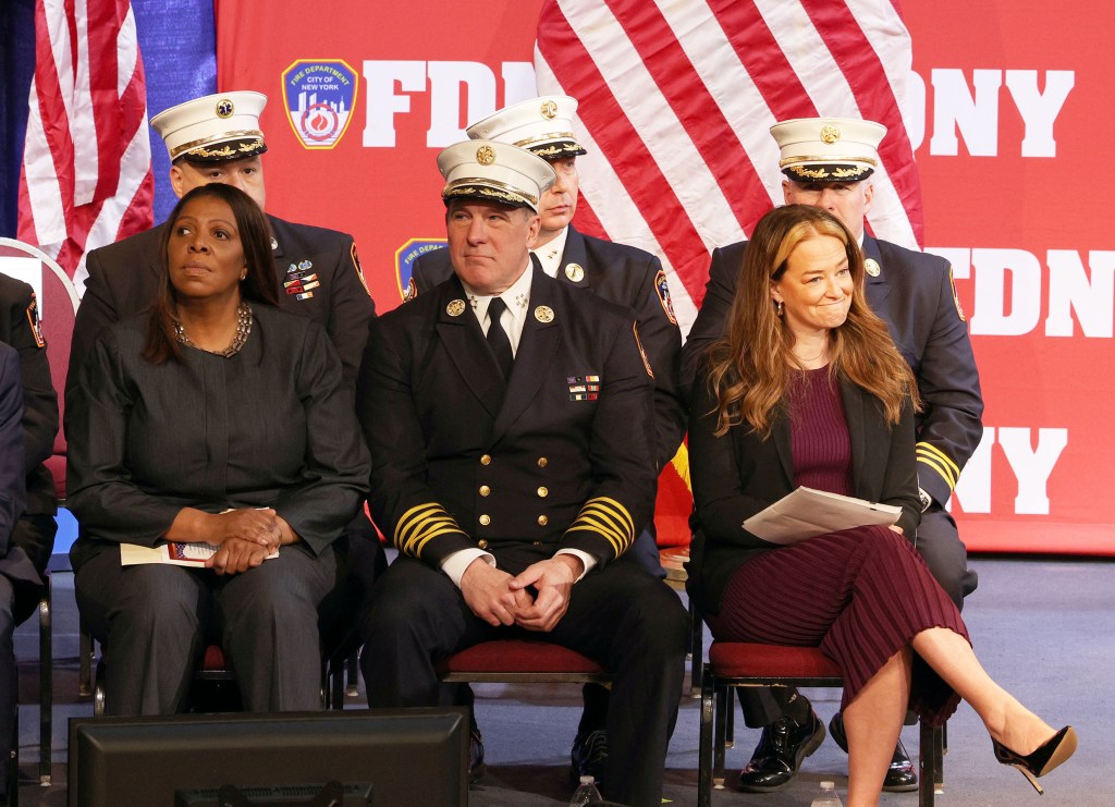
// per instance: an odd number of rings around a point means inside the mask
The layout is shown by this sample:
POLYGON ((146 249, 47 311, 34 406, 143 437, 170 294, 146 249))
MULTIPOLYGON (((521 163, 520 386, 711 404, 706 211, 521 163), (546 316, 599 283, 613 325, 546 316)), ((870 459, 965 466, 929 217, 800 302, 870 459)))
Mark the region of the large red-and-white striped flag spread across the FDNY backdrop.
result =
POLYGON ((534 67, 541 94, 580 101, 579 226, 662 259, 682 332, 712 247, 783 202, 778 120, 884 124, 869 223, 921 240, 898 0, 546 0, 534 67))

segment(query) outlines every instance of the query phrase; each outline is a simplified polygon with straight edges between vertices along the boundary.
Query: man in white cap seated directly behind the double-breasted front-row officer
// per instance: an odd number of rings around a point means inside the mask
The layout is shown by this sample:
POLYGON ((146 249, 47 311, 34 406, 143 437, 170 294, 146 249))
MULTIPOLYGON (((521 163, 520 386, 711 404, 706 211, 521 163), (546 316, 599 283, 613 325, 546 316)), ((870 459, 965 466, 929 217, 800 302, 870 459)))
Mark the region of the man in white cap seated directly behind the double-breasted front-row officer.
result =
MULTIPOLYGON (((634 246, 584 235, 571 224, 576 213, 580 175, 576 158, 584 154, 573 133, 576 99, 544 96, 501 109, 468 127, 471 138, 485 138, 520 146, 542 157, 558 176, 542 195, 541 229, 531 253, 542 271, 560 283, 589 289, 598 296, 634 312, 639 339, 655 372, 655 470, 669 463, 686 434, 687 412, 678 379, 681 332, 673 315, 670 290, 661 261, 634 246)), ((428 292, 453 275, 446 250, 436 250, 415 261, 408 295, 428 292)), ((665 576, 658 560, 653 521, 638 525, 632 552, 653 573, 665 576)), ((584 686, 584 714, 573 742, 572 776, 601 779, 608 752, 604 722, 608 690, 584 686)))

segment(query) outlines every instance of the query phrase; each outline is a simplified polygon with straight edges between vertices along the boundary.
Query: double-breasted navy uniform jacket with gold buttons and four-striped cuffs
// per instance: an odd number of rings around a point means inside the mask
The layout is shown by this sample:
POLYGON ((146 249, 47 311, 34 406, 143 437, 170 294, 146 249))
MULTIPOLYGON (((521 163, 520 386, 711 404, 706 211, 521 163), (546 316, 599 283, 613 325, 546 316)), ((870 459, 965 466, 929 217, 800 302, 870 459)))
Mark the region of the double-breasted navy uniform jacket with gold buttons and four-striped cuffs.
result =
POLYGON ((477 546, 513 574, 566 546, 602 565, 655 506, 653 385, 630 312, 529 271, 507 382, 456 276, 371 323, 357 414, 372 518, 434 566, 477 546))

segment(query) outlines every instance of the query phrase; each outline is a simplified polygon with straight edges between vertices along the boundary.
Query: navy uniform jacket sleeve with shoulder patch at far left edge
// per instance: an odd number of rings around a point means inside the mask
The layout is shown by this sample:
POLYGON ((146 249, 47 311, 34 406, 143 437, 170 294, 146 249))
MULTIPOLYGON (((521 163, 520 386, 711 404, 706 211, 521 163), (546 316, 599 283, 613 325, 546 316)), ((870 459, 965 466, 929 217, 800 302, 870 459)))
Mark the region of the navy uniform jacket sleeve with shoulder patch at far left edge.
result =
POLYGON ((0 341, 19 353, 19 375, 23 385, 25 514, 52 516, 58 512, 58 499, 55 480, 43 463, 55 450, 58 396, 50 380, 47 344, 38 331, 33 305, 31 286, 0 274, 0 341))

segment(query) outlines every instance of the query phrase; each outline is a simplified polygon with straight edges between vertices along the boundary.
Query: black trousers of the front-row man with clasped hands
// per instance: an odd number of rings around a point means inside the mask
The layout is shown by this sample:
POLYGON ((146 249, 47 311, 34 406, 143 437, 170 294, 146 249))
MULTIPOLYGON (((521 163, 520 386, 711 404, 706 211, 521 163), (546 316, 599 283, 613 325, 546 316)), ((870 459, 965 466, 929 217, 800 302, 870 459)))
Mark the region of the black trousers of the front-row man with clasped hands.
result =
MULTIPOLYGON (((513 564, 508 571, 518 570, 513 564)), ((539 634, 493 628, 473 614, 440 571, 399 557, 376 583, 362 632, 361 669, 371 707, 440 703, 445 688, 435 661, 493 639, 544 639, 598 659, 614 677, 608 797, 632 807, 661 804, 688 616, 677 594, 633 558, 615 561, 576 583, 569 611, 553 631, 539 634)), ((530 731, 524 727, 524 741, 530 731)))

